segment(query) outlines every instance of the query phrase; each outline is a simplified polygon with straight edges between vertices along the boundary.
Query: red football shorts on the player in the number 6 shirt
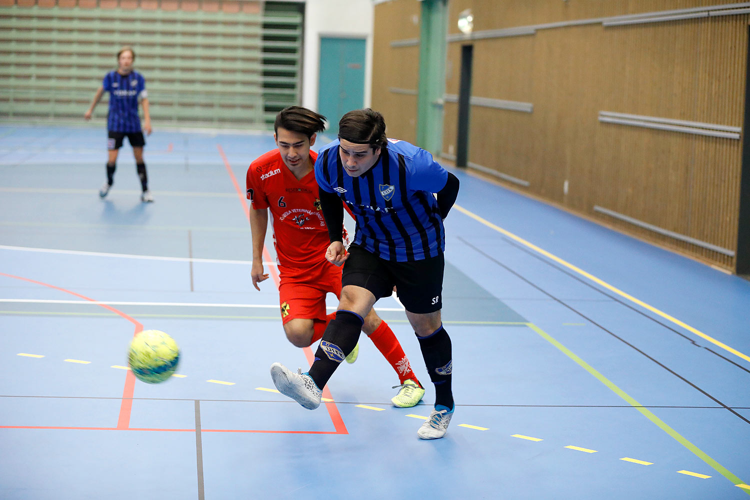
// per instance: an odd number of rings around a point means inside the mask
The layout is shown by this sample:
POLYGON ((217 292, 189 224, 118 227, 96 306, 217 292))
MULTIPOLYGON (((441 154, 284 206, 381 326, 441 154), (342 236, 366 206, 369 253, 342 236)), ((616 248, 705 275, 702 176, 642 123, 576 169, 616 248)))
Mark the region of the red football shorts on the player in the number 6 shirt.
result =
POLYGON ((326 295, 341 298, 341 268, 324 260, 312 268, 279 266, 281 322, 293 319, 326 321, 326 295))

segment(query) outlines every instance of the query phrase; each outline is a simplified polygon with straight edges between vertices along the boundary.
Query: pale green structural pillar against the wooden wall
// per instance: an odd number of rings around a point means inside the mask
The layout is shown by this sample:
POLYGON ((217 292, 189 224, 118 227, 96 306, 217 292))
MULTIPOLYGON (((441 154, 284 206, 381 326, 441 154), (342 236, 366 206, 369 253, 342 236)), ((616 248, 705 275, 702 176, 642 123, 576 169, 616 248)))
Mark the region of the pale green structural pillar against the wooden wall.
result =
POLYGON ((446 91, 447 0, 422 0, 417 89, 417 145, 440 154, 446 91))

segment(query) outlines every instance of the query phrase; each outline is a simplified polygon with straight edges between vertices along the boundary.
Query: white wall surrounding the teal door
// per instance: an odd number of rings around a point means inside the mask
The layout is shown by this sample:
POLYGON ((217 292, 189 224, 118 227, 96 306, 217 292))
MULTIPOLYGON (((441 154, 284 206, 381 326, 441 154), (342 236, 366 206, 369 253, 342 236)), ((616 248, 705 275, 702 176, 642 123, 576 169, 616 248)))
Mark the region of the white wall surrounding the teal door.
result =
POLYGON ((373 22, 372 0, 308 0, 305 2, 302 106, 318 110, 320 37, 366 38, 365 107, 370 106, 373 69, 373 22))

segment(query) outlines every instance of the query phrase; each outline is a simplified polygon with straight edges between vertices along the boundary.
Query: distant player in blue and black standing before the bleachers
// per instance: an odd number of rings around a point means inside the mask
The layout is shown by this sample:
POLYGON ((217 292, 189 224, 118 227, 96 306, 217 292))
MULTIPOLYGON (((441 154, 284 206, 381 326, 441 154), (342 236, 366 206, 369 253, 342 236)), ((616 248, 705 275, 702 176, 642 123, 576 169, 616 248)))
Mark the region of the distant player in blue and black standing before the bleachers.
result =
POLYGON ((133 156, 136 159, 136 169, 141 181, 141 201, 153 202, 154 197, 148 190, 148 175, 145 173, 143 161, 143 130, 151 135, 151 116, 148 114, 148 93, 145 91, 145 79, 137 71, 133 71, 133 61, 136 54, 130 47, 123 47, 117 52, 117 70, 110 71, 104 76, 101 87, 94 95, 94 100, 84 118, 90 120, 94 108, 105 91, 110 93, 110 110, 107 113, 107 182, 99 190, 99 196, 104 198, 110 192, 115 176, 117 153, 122 147, 122 141, 127 136, 133 146, 133 156), (143 128, 141 129, 138 116, 138 102, 143 106, 143 128))

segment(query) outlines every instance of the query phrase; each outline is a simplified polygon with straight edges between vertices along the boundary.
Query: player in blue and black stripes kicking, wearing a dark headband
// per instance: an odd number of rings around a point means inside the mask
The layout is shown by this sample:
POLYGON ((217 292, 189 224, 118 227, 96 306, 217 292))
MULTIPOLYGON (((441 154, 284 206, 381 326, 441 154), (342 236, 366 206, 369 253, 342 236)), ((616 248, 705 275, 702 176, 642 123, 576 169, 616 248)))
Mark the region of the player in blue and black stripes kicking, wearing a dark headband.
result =
POLYGON ((422 439, 442 438, 455 408, 451 339, 440 318, 443 219, 458 196, 458 178, 428 151, 386 139, 386 122, 372 109, 344 115, 338 137, 318 152, 315 178, 332 241, 326 259, 344 265, 341 301, 310 371, 293 373, 274 363, 272 379, 282 394, 316 409, 322 388, 356 346, 362 318, 396 287, 435 385, 434 410, 417 434, 422 439), (341 235, 330 229, 341 226, 342 199, 357 222, 348 253, 341 235))

